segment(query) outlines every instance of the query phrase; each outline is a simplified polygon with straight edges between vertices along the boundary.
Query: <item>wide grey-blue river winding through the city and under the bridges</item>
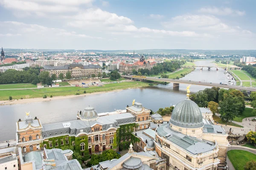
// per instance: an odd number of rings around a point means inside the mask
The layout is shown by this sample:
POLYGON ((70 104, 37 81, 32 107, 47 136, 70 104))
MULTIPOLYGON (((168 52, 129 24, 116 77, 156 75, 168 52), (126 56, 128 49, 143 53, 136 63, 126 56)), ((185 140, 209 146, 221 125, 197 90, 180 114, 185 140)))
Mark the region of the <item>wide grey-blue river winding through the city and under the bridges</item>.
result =
MULTIPOLYGON (((214 65, 209 60, 195 62, 196 65, 214 65)), ((219 68, 196 68, 182 79, 201 82, 227 83, 224 70, 219 68)), ((132 104, 132 100, 143 104, 145 108, 157 111, 159 108, 176 105, 186 98, 186 85, 180 84, 179 90, 173 90, 173 84, 157 85, 154 87, 135 88, 118 92, 108 92, 89 96, 78 96, 69 99, 59 99, 46 102, 35 102, 20 105, 0 106, 0 141, 15 139, 16 122, 24 119, 25 112, 32 117, 37 116, 42 124, 75 120, 77 111, 83 110, 88 105, 98 113, 112 112, 115 109, 125 109, 132 104)), ((208 86, 191 85, 191 93, 209 88, 208 86)))

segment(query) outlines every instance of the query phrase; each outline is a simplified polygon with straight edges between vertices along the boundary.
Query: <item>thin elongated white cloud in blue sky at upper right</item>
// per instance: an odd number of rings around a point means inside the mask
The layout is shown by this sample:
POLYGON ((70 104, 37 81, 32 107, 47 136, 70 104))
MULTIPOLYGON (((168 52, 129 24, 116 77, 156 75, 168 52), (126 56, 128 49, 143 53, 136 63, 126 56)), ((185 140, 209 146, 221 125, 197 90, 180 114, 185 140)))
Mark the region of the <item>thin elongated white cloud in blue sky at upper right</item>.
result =
POLYGON ((207 7, 201 8, 198 10, 204 14, 214 14, 214 15, 245 15, 245 11, 233 10, 232 8, 216 8, 216 7, 207 7))

